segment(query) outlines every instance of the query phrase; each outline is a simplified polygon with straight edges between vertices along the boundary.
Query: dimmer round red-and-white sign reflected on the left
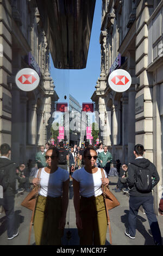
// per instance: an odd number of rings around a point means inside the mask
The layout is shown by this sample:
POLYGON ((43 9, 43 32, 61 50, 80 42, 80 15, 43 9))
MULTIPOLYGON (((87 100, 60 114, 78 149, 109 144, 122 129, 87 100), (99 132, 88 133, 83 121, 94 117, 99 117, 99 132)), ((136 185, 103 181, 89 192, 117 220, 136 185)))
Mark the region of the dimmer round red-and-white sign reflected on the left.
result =
POLYGON ((29 92, 37 88, 40 77, 33 69, 21 69, 15 77, 15 82, 18 88, 29 92))

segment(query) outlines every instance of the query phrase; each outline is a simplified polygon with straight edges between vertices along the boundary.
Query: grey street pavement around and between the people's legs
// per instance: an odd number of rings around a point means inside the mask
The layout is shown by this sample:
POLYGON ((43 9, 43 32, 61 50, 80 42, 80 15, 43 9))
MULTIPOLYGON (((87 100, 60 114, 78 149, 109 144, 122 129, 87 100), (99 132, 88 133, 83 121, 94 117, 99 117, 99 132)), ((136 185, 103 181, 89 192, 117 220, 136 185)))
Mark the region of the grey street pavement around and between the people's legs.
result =
MULTIPOLYGON (((110 191, 116 186, 118 177, 109 177, 110 191)), ((120 202, 120 206, 109 211, 111 222, 112 245, 154 245, 151 230, 149 228, 146 214, 139 210, 136 225, 135 239, 130 239, 124 234, 127 227, 129 214, 129 196, 123 192, 115 193, 112 191, 120 202)), ((0 245, 27 245, 29 224, 32 211, 21 206, 22 200, 27 196, 27 192, 17 194, 15 198, 15 217, 19 234, 12 240, 7 239, 7 227, 5 222, 5 214, 0 215, 0 245)), ((163 217, 158 216, 161 235, 163 237, 163 217)), ((109 228, 106 235, 105 245, 109 243, 109 228)), ((34 230, 32 228, 30 245, 35 245, 34 230)), ((76 227, 76 217, 73 206, 73 187, 70 181, 70 202, 67 210, 66 226, 64 236, 62 237, 62 245, 79 245, 79 236, 76 227)))

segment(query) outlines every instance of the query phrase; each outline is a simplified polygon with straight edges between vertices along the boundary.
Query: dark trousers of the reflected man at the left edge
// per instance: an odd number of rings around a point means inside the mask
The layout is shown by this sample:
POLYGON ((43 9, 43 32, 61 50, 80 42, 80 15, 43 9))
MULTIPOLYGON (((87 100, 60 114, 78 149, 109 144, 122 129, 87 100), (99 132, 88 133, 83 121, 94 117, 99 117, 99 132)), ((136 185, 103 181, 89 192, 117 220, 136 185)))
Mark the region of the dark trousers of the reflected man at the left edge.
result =
POLYGON ((7 219, 7 234, 11 237, 15 234, 15 212, 14 212, 14 196, 5 196, 3 198, 3 208, 7 219))

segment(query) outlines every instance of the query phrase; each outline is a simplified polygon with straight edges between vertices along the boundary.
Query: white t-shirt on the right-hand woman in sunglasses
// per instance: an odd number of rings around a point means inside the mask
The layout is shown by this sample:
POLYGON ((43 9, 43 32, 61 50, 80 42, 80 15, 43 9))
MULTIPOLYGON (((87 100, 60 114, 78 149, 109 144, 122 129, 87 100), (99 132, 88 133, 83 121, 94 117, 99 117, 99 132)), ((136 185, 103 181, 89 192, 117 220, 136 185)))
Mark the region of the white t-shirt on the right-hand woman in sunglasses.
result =
MULTIPOLYGON (((107 175, 104 170, 105 178, 107 175)), ((88 173, 85 168, 76 170, 72 178, 80 183, 80 195, 83 197, 100 196, 102 194, 102 173, 101 169, 98 168, 96 173, 88 173)))

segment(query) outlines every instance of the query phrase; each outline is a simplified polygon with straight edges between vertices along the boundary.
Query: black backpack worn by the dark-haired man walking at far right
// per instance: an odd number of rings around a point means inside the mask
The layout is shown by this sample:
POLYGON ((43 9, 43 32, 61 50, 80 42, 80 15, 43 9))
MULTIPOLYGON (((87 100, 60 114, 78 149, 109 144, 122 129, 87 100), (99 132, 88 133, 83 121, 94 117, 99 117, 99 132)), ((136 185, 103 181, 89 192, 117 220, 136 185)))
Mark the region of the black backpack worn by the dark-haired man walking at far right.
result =
POLYGON ((136 166, 135 186, 140 192, 150 192, 152 190, 152 174, 149 168, 136 166))

